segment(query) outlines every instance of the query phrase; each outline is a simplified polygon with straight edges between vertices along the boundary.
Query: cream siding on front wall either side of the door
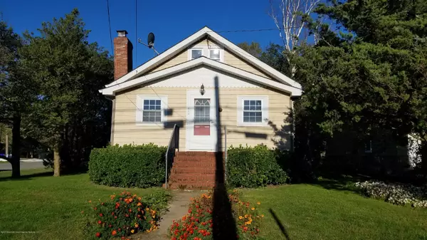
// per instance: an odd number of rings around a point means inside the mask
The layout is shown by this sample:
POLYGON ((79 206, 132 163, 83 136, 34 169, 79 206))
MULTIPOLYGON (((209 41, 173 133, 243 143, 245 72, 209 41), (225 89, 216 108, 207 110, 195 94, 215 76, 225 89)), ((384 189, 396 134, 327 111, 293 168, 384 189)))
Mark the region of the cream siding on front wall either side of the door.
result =
MULTIPOLYGON (((144 144, 153 142, 168 145, 175 122, 181 125, 179 148, 186 150, 186 90, 190 88, 150 88, 144 87, 116 96, 112 130, 112 144, 144 144), (172 115, 167 116, 169 128, 163 125, 137 125, 137 95, 167 95, 172 115)), ((198 88, 193 88, 198 89, 198 88)), ((285 122, 290 111, 290 96, 265 88, 220 88, 219 90, 222 129, 227 127, 227 145, 258 145, 289 148, 289 123, 285 122), (237 96, 268 95, 269 119, 271 125, 266 127, 237 126, 237 96), (281 136, 281 137, 280 137, 281 136)), ((224 134, 223 134, 224 138, 224 134)), ((224 146, 224 143, 223 143, 224 146)))

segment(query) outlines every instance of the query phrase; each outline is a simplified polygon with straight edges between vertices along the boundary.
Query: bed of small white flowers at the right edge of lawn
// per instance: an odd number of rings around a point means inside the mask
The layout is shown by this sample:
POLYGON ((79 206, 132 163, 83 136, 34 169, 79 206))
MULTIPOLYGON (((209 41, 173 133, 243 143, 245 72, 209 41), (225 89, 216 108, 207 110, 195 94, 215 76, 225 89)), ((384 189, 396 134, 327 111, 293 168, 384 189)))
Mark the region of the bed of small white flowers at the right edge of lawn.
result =
POLYGON ((412 207, 427 207, 427 185, 387 184, 385 182, 357 182, 355 186, 368 197, 384 199, 392 204, 411 204, 412 207))

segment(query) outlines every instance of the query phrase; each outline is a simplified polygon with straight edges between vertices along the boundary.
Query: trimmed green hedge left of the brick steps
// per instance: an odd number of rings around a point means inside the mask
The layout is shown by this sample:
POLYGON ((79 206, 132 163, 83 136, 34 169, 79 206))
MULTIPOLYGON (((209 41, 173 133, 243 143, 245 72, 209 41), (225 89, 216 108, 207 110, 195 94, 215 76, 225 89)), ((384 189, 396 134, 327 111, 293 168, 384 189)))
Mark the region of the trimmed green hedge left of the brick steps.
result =
POLYGON ((95 148, 90 153, 90 180, 114 187, 162 186, 166 149, 153 144, 95 148))

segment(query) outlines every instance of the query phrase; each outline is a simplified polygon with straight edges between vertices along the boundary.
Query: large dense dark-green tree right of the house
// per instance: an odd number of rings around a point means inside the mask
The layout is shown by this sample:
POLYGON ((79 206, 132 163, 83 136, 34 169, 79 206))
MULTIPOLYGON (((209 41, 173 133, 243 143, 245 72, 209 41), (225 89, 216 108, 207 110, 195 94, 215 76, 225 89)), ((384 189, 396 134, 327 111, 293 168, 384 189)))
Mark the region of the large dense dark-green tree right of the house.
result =
POLYGON ((324 24, 319 43, 292 58, 305 113, 329 135, 344 128, 415 133, 427 147, 426 1, 334 1, 315 12, 342 31, 324 24))

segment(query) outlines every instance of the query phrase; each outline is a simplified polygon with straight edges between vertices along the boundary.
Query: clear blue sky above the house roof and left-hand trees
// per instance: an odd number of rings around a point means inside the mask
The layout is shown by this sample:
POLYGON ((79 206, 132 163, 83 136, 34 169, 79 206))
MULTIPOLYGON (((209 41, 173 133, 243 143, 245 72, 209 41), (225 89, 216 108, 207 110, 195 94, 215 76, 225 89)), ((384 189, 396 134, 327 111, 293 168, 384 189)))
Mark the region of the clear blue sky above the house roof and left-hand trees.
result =
MULTIPOLYGON (((137 37, 147 41, 147 34, 156 35, 155 46, 162 52, 191 35, 203 26, 214 31, 241 29, 275 28, 268 16, 268 0, 137 0, 137 37)), ((90 29, 89 41, 97 41, 108 51, 111 49, 108 29, 106 0, 5 0, 0 1, 3 20, 17 33, 33 31, 43 21, 51 21, 78 8, 80 16, 90 29)), ((129 32, 128 38, 134 43, 134 67, 152 58, 153 53, 145 46, 137 46, 135 64, 135 0, 110 0, 112 37, 117 29, 129 32)), ((278 31, 243 33, 220 33, 233 43, 258 41, 265 47, 268 43, 280 43, 278 31)))

